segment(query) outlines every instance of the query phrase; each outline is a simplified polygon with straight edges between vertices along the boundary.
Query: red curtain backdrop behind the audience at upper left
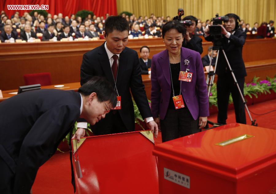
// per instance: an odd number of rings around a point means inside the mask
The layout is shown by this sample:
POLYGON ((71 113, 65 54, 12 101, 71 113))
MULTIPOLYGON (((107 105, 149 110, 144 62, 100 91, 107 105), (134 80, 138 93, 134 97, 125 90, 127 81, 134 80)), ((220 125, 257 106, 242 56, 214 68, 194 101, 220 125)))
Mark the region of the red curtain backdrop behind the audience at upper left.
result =
POLYGON ((4 10, 10 18, 15 11, 18 11, 20 16, 25 11, 31 10, 8 10, 7 5, 49 5, 48 13, 62 13, 63 17, 76 14, 79 10, 90 10, 96 16, 117 15, 116 0, 0 0, 0 11, 4 10))

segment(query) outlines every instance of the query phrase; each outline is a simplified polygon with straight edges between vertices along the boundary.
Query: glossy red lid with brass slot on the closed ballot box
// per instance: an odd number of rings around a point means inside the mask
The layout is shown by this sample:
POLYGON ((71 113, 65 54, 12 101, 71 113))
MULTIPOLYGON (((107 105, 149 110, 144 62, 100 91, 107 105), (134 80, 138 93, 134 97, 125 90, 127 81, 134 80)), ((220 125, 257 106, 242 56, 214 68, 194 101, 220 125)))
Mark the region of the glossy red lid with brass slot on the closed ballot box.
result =
POLYGON ((153 154, 224 177, 247 177, 276 164, 276 130, 232 123, 158 144, 153 154))

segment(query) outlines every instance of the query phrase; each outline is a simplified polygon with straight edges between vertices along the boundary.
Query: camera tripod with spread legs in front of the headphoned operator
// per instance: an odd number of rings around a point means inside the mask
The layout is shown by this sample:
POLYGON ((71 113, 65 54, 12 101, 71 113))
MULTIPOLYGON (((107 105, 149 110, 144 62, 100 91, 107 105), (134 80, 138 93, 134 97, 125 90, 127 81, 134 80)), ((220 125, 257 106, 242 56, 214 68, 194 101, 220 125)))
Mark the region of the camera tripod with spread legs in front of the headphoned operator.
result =
MULTIPOLYGON (((215 73, 216 73, 216 68, 217 68, 217 60, 218 60, 218 57, 219 57, 220 49, 222 50, 222 52, 223 52, 223 54, 224 54, 225 60, 226 60, 226 62, 227 62, 227 64, 228 64, 228 68, 229 68, 229 70, 230 70, 230 72, 231 72, 231 74, 232 74, 233 80, 234 80, 234 82, 235 82, 235 84, 236 84, 236 86, 237 86, 237 88, 238 88, 238 90, 239 90, 240 97, 241 97, 241 99, 243 100, 243 104, 244 104, 244 106, 245 106, 245 108, 246 108, 246 110, 247 110, 247 113, 248 113, 248 115, 249 115, 249 118, 250 118, 250 120, 251 120, 251 125, 252 125, 252 126, 258 126, 258 124, 255 123, 255 122, 256 122, 256 119, 253 121, 253 119, 252 119, 252 117, 251 117, 251 114, 250 114, 250 112, 249 112, 249 110, 248 110, 248 107, 247 107, 247 105, 246 105, 246 102, 245 102, 245 100, 244 100, 243 93, 242 93, 241 90, 240 90, 240 86, 239 86, 239 84, 238 84, 238 82, 237 82, 237 80, 236 80, 236 77, 235 77, 235 75, 234 75, 234 72, 233 72, 233 70, 232 70, 232 68, 231 68, 231 66, 230 66, 230 64, 229 64, 229 61, 228 61, 228 59, 227 59, 227 56, 226 56, 226 54, 225 54, 225 52, 224 52, 222 46, 213 46, 213 48, 212 48, 212 55, 211 55, 211 60, 210 60, 210 64, 209 64, 209 70, 208 70, 207 79, 206 79, 206 83, 207 83, 207 87, 208 87, 208 98, 209 98, 209 96, 210 96, 211 88, 212 88, 213 83, 214 83, 214 80, 215 80, 215 73), (210 71, 211 64, 212 64, 212 60, 213 60, 213 52, 214 52, 214 50, 217 50, 217 59, 216 59, 214 71, 210 71)), ((207 121, 207 123, 213 125, 212 128, 217 127, 217 126, 224 125, 224 124, 220 124, 220 123, 214 123, 214 122, 211 122, 211 121, 207 121)))

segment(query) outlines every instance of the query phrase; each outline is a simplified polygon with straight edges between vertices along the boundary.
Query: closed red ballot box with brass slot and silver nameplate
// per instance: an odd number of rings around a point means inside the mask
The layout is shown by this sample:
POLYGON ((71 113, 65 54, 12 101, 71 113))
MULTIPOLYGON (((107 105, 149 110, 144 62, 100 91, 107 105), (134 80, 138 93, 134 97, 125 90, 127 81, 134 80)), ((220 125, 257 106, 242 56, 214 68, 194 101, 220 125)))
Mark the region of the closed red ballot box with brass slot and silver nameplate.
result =
POLYGON ((155 146, 159 193, 276 193, 276 130, 228 124, 155 146))

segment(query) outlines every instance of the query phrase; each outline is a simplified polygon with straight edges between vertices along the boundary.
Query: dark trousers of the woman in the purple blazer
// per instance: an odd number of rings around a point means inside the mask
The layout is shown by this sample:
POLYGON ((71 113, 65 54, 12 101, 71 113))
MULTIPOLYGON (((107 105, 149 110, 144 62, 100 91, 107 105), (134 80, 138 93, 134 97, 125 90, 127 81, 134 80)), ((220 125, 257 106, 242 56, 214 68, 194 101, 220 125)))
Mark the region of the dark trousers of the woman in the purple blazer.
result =
POLYGON ((164 120, 160 120, 162 142, 200 132, 198 118, 194 120, 189 109, 168 109, 164 120))

